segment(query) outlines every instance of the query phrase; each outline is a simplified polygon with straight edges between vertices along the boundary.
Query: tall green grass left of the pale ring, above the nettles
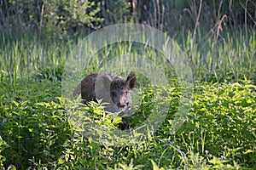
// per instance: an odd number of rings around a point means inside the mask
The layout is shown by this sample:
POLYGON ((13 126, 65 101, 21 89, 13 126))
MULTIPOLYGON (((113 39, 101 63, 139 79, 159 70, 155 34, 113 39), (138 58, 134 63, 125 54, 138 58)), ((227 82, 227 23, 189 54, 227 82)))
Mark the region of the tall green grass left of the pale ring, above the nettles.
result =
POLYGON ((17 78, 29 78, 43 68, 64 65, 69 43, 42 41, 36 34, 27 33, 17 37, 2 34, 0 44, 0 71, 9 77, 15 95, 17 78))

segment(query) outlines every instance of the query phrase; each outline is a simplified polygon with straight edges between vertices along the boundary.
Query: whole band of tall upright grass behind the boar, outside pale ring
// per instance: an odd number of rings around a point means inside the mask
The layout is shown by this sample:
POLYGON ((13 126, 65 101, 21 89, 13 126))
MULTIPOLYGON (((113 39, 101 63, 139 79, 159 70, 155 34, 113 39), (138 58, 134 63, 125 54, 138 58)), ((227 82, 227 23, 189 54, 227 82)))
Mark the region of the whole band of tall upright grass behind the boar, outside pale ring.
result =
MULTIPOLYGON (((220 82, 225 78, 230 81, 238 81, 244 77, 253 78, 256 63, 255 30, 248 30, 247 34, 243 28, 225 30, 217 43, 209 32, 202 32, 201 35, 205 35, 204 37, 193 35, 192 32, 181 31, 174 40, 177 40, 187 54, 187 59, 193 56, 195 80, 220 82), (193 46, 191 42, 194 43, 193 46)), ((26 35, 20 40, 9 40, 4 35, 1 39, 0 70, 2 74, 9 76, 9 81, 14 88, 17 77, 26 78, 40 68, 64 65, 68 52, 73 49, 76 42, 83 41, 83 38, 79 37, 70 38, 67 42, 49 42, 26 35)), ((145 44, 136 48, 136 45, 132 43, 125 45, 124 42, 106 46, 93 57, 90 66, 96 68, 102 59, 131 53, 131 51, 136 52, 143 46, 145 44)), ((152 55, 149 58, 153 60, 159 55, 152 48, 147 48, 146 53, 152 55)))

